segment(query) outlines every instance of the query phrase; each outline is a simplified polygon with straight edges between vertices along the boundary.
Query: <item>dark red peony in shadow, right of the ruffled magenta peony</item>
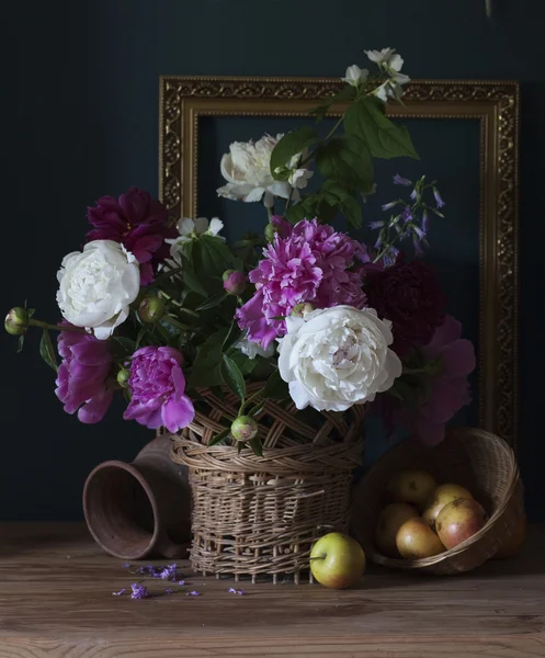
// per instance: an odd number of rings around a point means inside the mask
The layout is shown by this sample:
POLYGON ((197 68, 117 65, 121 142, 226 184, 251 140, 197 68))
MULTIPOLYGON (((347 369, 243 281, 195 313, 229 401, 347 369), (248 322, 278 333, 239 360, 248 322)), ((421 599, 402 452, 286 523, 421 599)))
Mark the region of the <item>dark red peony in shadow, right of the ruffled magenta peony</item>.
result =
POLYGON ((444 321, 446 299, 435 271, 420 260, 400 257, 389 268, 368 268, 364 290, 367 305, 393 322, 390 347, 400 356, 428 344, 444 321))

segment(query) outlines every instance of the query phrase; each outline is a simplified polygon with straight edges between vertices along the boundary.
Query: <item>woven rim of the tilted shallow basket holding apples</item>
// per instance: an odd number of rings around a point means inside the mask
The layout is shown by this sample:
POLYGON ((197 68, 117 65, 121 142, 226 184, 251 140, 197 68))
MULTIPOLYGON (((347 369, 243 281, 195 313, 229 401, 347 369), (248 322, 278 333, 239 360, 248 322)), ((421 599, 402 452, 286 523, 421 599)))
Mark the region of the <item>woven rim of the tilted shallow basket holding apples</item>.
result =
MULTIPOLYGON (((376 564, 379 564, 379 565, 383 565, 386 567, 391 566, 391 567, 401 568, 401 569, 411 569, 411 568, 416 569, 419 567, 429 567, 429 566, 438 565, 442 561, 445 561, 447 559, 456 557, 457 555, 459 555, 462 553, 465 553, 467 549, 469 549, 474 544, 476 544, 479 540, 481 540, 485 535, 487 535, 490 532, 490 530, 492 530, 496 526, 496 524, 500 521, 503 512, 508 508, 512 497, 516 494, 518 489, 522 486, 519 465, 516 464, 516 458, 514 456, 514 452, 511 449, 511 446, 501 436, 498 436, 497 434, 492 434, 491 432, 488 432, 480 428, 449 428, 446 430, 446 432, 449 435, 462 435, 462 434, 470 433, 474 436, 477 435, 480 440, 495 442, 495 446, 498 450, 500 450, 507 457, 507 461, 509 462, 510 470, 511 470, 511 473, 510 473, 511 483, 510 483, 510 486, 508 488, 508 491, 507 491, 503 500, 501 501, 498 509, 492 513, 492 515, 488 519, 488 521, 485 523, 485 525, 478 532, 476 532, 474 535, 472 535, 465 542, 462 542, 454 548, 443 551, 443 553, 440 553, 439 555, 434 555, 432 557, 425 557, 422 559, 405 559, 405 558, 387 557, 387 556, 383 555, 382 553, 378 553, 375 549, 374 544, 371 543, 371 547, 366 548, 366 554, 376 564)), ((418 440, 417 439, 408 439, 407 441, 417 442, 418 440)), ((396 446, 394 446, 391 450, 396 450, 396 446)), ((362 479, 364 479, 366 476, 375 473, 377 469, 379 469, 382 467, 382 464, 384 464, 384 462, 388 457, 388 452, 385 453, 384 455, 382 455, 373 464, 373 466, 367 470, 367 473, 363 476, 362 479)), ((356 489, 357 489, 357 486, 356 486, 356 489)))

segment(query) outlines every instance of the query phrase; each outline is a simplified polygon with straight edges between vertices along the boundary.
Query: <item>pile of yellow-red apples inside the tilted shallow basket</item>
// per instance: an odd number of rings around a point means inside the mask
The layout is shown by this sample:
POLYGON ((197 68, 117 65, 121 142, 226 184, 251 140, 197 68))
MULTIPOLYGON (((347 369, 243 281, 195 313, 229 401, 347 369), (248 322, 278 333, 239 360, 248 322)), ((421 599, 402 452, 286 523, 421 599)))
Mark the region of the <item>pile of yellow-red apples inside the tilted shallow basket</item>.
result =
POLYGON ((454 548, 487 521, 484 508, 459 485, 438 486, 425 470, 402 470, 388 483, 375 544, 387 557, 422 559, 454 548))

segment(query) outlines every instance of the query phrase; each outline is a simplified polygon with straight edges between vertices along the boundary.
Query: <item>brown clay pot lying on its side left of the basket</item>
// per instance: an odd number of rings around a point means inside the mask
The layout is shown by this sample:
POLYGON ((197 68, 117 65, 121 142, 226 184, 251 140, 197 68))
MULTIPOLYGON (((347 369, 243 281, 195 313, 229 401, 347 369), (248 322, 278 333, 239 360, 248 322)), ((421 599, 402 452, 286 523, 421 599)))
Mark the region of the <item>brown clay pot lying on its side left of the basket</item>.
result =
POLYGON ((115 557, 185 557, 191 537, 191 490, 184 466, 158 435, 130 464, 104 462, 87 478, 83 511, 95 542, 115 557))

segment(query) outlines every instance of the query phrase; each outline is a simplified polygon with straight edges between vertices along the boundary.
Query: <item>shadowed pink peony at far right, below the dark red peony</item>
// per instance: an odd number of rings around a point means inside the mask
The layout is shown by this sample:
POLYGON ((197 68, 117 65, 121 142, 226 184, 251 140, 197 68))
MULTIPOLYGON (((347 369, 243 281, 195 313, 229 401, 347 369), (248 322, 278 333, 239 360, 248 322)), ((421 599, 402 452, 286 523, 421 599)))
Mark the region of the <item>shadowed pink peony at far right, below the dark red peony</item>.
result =
POLYGON ((439 374, 430 376, 429 398, 416 410, 402 407, 395 412, 395 420, 429 445, 443 440, 445 423, 472 400, 467 376, 475 370, 475 350, 461 337, 462 325, 446 316, 431 342, 422 348, 427 362, 441 360, 439 374))

